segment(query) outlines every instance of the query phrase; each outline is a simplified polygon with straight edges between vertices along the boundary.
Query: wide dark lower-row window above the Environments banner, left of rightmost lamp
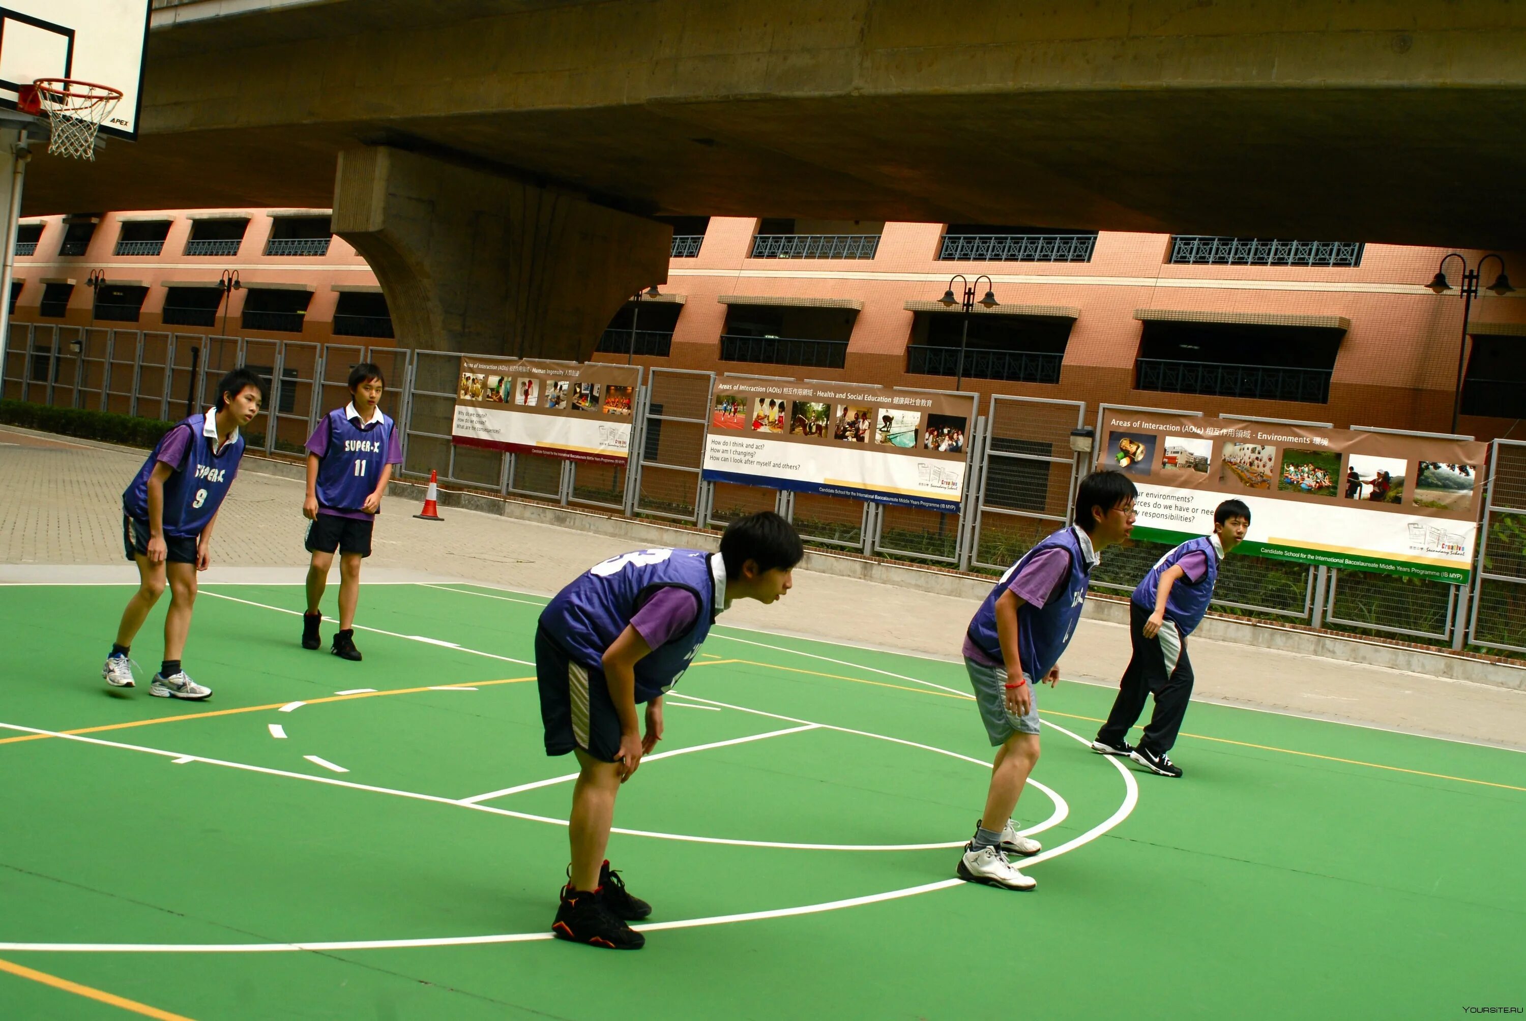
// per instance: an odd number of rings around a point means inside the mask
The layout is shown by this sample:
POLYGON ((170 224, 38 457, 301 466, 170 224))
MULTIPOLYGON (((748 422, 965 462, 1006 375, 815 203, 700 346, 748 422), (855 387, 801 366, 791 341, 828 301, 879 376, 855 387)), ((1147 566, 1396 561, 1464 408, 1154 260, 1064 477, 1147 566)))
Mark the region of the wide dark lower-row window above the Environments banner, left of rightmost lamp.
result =
POLYGON ((1135 389, 1329 403, 1340 330, 1146 322, 1135 389))

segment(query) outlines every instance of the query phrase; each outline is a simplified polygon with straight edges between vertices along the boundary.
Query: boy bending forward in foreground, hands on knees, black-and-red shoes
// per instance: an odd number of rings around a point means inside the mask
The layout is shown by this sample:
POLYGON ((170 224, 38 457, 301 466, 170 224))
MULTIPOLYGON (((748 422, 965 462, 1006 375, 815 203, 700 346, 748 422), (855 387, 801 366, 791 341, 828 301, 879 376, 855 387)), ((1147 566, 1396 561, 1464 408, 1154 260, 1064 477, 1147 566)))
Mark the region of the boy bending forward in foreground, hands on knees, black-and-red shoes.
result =
POLYGON ((551 931, 563 940, 638 949, 627 922, 652 905, 626 893, 604 859, 615 795, 662 740, 662 696, 678 684, 716 615, 737 598, 789 592, 804 549, 772 511, 732 522, 720 552, 639 549, 583 572, 540 614, 536 675, 546 754, 577 755, 568 838, 572 865, 551 931), (645 704, 645 737, 636 705, 645 704))

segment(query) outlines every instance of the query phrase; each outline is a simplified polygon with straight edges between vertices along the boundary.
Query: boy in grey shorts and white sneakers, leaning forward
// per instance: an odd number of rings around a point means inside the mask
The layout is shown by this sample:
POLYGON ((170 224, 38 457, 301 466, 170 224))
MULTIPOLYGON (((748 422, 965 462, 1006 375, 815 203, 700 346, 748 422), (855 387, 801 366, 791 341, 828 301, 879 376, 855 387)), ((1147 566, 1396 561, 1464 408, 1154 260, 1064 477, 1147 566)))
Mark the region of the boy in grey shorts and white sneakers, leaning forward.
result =
POLYGON ((1076 523, 1041 540, 1007 568, 969 623, 964 668, 986 736, 998 751, 986 810, 955 868, 960 879, 1006 890, 1038 885, 1007 859, 1009 853, 1042 850, 1012 821, 1039 760, 1035 685, 1059 681, 1056 664, 1076 633, 1097 552, 1129 537, 1135 493, 1122 472, 1083 478, 1076 491, 1076 523))

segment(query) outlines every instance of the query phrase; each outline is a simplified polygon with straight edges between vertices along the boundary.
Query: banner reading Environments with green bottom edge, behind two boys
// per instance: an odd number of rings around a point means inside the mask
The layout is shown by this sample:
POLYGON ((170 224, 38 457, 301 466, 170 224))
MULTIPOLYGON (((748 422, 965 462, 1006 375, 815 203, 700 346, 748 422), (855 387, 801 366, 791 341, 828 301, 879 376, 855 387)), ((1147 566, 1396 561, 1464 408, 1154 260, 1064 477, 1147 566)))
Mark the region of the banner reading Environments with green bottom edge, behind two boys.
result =
POLYGON ((1138 485, 1138 539, 1204 536, 1233 496, 1251 510, 1238 554, 1468 580, 1486 444, 1108 412, 1097 450, 1138 485))

